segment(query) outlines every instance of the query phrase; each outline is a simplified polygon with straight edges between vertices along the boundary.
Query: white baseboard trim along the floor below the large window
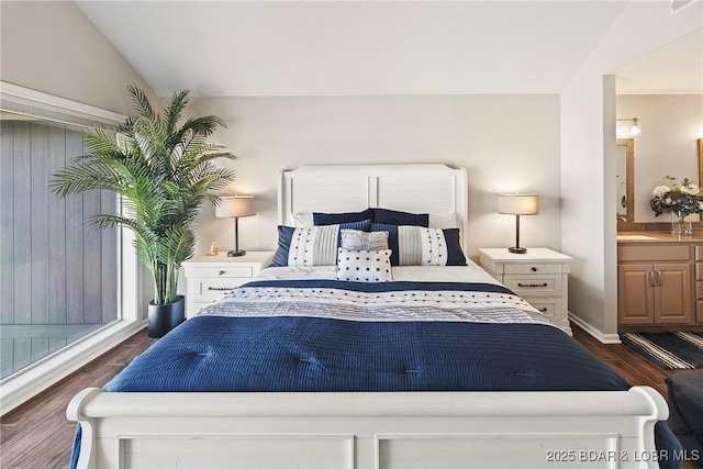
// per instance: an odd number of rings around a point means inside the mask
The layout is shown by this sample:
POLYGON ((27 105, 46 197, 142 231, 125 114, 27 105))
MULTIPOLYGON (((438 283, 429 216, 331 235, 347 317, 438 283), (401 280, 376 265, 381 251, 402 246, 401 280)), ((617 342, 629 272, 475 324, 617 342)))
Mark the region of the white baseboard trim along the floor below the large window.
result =
POLYGON ((111 324, 0 381, 0 415, 56 384, 145 326, 146 321, 111 324))

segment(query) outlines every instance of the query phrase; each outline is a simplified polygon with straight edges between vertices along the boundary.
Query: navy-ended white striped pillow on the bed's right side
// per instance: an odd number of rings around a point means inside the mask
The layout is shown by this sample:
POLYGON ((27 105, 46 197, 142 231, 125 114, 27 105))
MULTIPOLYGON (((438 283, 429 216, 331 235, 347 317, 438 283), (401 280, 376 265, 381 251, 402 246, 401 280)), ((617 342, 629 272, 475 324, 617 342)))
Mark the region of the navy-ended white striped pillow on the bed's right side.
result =
POLYGON ((425 228, 371 223, 371 232, 388 232, 393 266, 466 266, 459 228, 425 228))

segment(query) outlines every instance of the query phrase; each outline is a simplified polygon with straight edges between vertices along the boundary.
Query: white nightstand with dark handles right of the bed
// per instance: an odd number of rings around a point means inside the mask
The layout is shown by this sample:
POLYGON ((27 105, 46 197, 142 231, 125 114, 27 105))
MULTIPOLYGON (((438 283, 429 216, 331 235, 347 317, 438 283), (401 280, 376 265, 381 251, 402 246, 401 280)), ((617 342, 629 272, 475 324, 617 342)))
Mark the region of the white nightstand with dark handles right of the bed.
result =
POLYGON ((531 247, 525 254, 513 254, 507 248, 479 249, 479 263, 486 271, 569 335, 569 268, 572 260, 545 247, 531 247))

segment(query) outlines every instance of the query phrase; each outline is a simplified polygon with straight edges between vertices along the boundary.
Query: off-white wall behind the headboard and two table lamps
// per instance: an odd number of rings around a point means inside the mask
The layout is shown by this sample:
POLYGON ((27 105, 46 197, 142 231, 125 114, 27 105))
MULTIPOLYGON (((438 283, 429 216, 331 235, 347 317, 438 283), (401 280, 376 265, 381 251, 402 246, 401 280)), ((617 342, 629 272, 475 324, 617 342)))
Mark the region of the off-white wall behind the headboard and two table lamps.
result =
MULTIPOLYGON (((515 242, 515 221, 495 194, 534 191, 540 213, 521 220, 521 244, 560 248, 559 98, 554 94, 200 98, 192 113, 228 129, 213 143, 239 157, 232 192, 255 194, 258 215, 239 221, 239 247, 275 249, 277 185, 303 165, 444 163, 469 176, 469 254, 515 242)), ((422 187, 417 188, 422 191, 422 187)), ((233 221, 203 210, 198 252, 233 245, 233 221)))

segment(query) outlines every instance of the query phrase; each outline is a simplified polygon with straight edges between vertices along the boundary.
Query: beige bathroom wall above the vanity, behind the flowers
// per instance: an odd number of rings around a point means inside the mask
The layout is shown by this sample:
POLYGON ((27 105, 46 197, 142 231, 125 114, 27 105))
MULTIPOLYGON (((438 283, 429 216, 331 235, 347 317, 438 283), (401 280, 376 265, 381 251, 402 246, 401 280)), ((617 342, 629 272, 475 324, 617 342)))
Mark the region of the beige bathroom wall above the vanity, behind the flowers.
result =
POLYGON ((635 222, 669 222, 649 208, 651 190, 666 176, 699 182, 699 144, 703 138, 702 94, 618 96, 617 116, 636 116, 643 127, 635 138, 635 222))

